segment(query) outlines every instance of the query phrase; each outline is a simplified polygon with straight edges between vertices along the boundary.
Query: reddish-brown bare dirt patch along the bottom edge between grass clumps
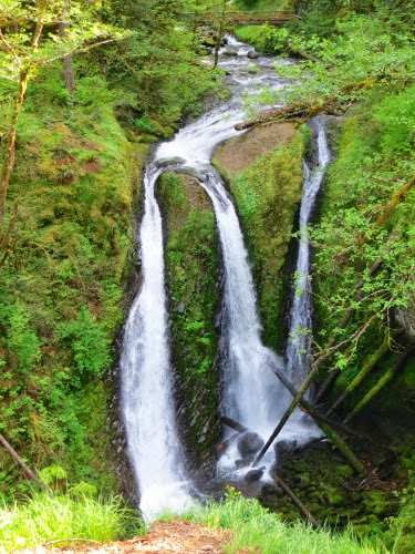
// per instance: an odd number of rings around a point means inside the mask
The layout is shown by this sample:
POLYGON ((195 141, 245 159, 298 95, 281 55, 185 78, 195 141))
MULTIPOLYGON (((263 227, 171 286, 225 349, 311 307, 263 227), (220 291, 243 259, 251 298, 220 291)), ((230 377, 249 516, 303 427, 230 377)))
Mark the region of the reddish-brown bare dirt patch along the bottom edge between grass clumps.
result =
POLYGON ((216 531, 205 525, 196 525, 187 521, 169 521, 155 523, 146 536, 137 536, 129 541, 98 544, 92 542, 74 542, 73 546, 56 547, 56 543, 45 543, 37 548, 18 551, 19 554, 80 554, 80 553, 122 553, 134 552, 166 554, 220 554, 221 544, 231 537, 228 531, 216 531))

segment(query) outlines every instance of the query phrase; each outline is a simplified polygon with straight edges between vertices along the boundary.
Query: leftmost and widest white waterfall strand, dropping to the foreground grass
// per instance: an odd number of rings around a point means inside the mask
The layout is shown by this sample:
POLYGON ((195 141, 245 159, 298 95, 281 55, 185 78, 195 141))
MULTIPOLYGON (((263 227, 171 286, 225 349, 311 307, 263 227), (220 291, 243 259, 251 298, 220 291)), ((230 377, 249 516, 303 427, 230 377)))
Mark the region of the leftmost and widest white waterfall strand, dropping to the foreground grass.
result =
POLYGON ((162 216, 154 197, 159 174, 149 165, 144 176, 143 286, 129 311, 121 359, 128 450, 147 522, 163 511, 177 513, 190 504, 173 407, 162 216))

